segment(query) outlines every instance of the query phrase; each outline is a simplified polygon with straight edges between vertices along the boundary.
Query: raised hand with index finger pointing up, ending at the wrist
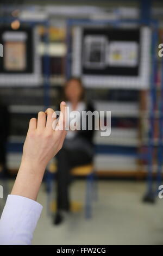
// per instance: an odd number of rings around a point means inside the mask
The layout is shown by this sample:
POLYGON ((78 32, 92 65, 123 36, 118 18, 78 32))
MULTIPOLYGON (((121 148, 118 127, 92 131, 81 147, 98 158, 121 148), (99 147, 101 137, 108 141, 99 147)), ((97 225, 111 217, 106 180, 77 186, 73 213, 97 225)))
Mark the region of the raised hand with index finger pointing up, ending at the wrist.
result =
MULTIPOLYGON (((65 102, 61 103, 61 113, 65 121, 65 102)), ((48 162, 61 149, 65 139, 65 130, 53 130, 53 109, 39 112, 38 118, 32 118, 29 123, 27 138, 23 147, 22 161, 45 169, 48 162), (47 120, 46 120, 47 114, 47 120)), ((59 123, 62 122, 60 116, 59 123)), ((59 124, 58 124, 59 125, 59 124)))

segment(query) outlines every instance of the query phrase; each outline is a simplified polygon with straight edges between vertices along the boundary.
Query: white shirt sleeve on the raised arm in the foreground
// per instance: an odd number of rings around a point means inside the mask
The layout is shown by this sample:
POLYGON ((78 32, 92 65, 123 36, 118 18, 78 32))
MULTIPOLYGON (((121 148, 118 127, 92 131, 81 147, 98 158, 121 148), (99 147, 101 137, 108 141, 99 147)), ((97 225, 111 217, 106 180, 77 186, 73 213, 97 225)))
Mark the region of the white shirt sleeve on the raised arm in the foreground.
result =
POLYGON ((0 245, 30 245, 42 205, 10 194, 0 220, 0 245))

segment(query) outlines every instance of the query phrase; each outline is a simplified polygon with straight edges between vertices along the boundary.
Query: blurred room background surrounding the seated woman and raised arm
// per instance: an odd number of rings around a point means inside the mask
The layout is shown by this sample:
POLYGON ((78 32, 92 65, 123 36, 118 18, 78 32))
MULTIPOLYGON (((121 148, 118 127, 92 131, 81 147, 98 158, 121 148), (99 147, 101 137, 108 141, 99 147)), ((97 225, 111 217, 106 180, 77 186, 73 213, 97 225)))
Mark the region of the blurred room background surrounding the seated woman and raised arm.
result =
POLYGON ((1 1, 0 211, 29 119, 57 109, 68 78, 81 78, 96 110, 111 111, 111 135, 95 132, 93 162, 72 171, 71 212, 58 226, 49 163, 33 244, 162 245, 162 17, 163 2, 152 0, 1 1))

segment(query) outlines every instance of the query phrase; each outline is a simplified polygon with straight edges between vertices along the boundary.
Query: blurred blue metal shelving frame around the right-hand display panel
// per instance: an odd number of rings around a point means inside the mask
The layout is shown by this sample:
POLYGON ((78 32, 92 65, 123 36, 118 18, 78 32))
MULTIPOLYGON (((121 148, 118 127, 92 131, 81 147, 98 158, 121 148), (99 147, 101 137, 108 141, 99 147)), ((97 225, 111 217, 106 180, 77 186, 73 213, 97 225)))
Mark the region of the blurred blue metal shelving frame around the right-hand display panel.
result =
MULTIPOLYGON (((151 106, 149 109, 149 133, 148 133, 148 150, 146 154, 137 154, 136 150, 126 150, 123 147, 107 147, 106 145, 97 146, 96 151, 101 154, 117 154, 117 155, 127 155, 127 156, 135 156, 138 159, 144 159, 147 161, 148 165, 148 175, 147 175, 147 191, 145 193, 145 197, 143 198, 146 202, 154 202, 155 193, 153 191, 153 148, 154 148, 154 120, 155 120, 155 106, 156 106, 156 84, 155 84, 155 77, 157 71, 157 56, 156 56, 156 46, 158 43, 158 22, 151 19, 151 1, 143 1, 142 5, 142 14, 139 20, 102 20, 102 21, 95 21, 95 20, 79 20, 79 19, 70 19, 67 20, 67 58, 66 58, 66 66, 67 66, 67 78, 71 76, 71 29, 72 26, 85 26, 85 25, 112 25, 117 27, 122 23, 130 22, 136 23, 137 25, 146 25, 152 28, 152 70, 151 70, 151 78, 150 78, 150 87, 149 87, 149 98, 151 99, 151 106), (149 4, 147 8, 147 3, 149 4), (146 12, 145 15, 143 15, 146 12), (121 149, 120 149, 121 148, 121 149)), ((162 91, 161 91, 162 92, 162 91)), ((163 93, 162 93, 163 94, 163 93)), ((162 109, 162 103, 160 103, 160 111, 162 109)), ((162 117, 162 115, 161 115, 162 117)), ((162 137, 162 119, 160 123, 160 136, 162 137)), ((161 180, 161 153, 162 153, 162 142, 159 139, 159 169, 158 169, 158 182, 160 183, 161 180)))

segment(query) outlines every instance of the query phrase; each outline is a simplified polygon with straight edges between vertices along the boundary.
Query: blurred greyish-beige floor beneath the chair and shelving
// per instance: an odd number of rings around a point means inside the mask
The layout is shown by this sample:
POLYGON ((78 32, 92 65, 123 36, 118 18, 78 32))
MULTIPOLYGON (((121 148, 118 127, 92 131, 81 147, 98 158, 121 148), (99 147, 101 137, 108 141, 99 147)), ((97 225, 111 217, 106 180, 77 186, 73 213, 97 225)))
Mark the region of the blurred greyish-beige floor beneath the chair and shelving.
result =
MULTIPOLYGON (((43 212, 37 224, 33 245, 163 245, 163 199, 143 204, 145 183, 137 181, 99 181, 98 201, 93 217, 84 211, 66 216, 59 226, 52 225, 46 212, 46 193, 41 187, 38 202, 43 212)), ((85 182, 71 187, 73 200, 84 202, 85 182)))

